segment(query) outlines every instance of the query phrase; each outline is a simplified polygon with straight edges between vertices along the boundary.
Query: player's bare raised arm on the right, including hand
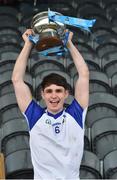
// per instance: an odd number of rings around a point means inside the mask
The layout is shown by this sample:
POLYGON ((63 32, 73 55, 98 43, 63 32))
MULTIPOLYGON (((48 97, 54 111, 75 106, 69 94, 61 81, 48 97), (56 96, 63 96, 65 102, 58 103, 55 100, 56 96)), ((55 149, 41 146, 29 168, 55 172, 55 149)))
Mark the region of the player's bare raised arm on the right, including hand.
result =
POLYGON ((75 99, 85 108, 89 101, 89 70, 82 55, 72 43, 72 36, 73 33, 70 32, 67 47, 79 75, 75 84, 75 99))

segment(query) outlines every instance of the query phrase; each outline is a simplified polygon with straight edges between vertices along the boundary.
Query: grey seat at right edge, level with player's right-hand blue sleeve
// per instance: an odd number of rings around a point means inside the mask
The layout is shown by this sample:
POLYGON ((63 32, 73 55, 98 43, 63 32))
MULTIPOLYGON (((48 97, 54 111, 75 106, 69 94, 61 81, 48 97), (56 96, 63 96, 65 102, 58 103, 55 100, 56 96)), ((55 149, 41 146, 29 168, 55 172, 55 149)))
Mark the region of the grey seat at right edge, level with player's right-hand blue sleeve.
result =
POLYGON ((109 117, 117 117, 117 98, 103 92, 90 94, 86 126, 91 127, 95 121, 109 117))

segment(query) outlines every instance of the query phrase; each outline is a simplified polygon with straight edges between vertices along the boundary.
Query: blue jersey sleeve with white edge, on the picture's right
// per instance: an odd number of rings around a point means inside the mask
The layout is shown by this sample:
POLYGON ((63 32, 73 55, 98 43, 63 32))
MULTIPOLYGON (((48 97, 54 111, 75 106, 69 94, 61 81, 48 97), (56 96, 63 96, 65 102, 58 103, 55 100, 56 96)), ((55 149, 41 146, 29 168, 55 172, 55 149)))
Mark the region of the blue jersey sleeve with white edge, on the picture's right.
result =
POLYGON ((84 128, 87 108, 83 109, 78 101, 74 99, 72 103, 67 107, 66 112, 76 120, 81 128, 84 128))

